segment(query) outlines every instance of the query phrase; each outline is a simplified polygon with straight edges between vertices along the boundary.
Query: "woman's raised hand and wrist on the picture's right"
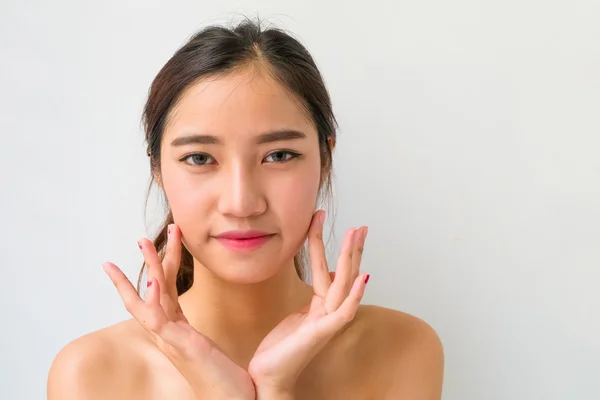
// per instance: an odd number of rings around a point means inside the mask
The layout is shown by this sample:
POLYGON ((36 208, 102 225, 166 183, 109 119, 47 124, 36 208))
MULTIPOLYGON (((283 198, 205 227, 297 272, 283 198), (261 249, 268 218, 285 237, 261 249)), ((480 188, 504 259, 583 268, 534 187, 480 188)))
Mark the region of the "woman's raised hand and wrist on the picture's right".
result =
POLYGON ((359 274, 367 227, 344 236, 335 279, 323 243, 324 211, 315 213, 308 233, 314 296, 309 306, 285 318, 262 341, 250 361, 257 399, 284 398, 298 376, 341 328, 354 319, 369 275, 359 274))

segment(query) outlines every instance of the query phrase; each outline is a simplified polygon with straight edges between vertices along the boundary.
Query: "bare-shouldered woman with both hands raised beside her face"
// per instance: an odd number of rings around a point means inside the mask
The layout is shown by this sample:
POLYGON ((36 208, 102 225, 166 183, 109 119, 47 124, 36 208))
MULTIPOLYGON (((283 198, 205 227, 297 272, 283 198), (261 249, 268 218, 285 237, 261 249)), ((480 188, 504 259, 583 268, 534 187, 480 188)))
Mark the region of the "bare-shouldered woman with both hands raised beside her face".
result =
POLYGON ((251 21, 206 28, 158 73, 143 117, 168 205, 138 243, 147 292, 103 264, 134 318, 68 344, 50 400, 440 398, 434 330, 359 305, 367 227, 328 272, 317 204, 336 121, 298 41, 251 21))

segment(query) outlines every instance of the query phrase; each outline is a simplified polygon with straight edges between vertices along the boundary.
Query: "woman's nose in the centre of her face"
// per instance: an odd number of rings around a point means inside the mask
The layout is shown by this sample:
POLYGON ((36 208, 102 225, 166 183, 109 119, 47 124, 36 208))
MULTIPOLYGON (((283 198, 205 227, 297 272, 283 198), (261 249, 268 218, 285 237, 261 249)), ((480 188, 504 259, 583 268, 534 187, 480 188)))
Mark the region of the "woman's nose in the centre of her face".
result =
POLYGON ((266 211, 267 201, 257 171, 238 164, 221 173, 218 209, 222 215, 249 218, 266 211))

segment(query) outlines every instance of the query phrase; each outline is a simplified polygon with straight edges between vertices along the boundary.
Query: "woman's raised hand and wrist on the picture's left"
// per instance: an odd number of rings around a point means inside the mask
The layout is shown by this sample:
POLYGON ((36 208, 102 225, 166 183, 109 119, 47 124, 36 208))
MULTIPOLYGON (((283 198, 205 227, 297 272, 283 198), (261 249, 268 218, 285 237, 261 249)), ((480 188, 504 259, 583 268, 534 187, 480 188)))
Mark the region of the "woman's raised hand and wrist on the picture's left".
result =
POLYGON ((102 266, 117 288, 127 311, 152 335, 156 346, 201 398, 255 399, 250 375, 195 330, 179 306, 176 279, 181 260, 181 231, 169 227, 164 260, 151 241, 138 242, 148 267, 146 300, 114 264, 102 266))

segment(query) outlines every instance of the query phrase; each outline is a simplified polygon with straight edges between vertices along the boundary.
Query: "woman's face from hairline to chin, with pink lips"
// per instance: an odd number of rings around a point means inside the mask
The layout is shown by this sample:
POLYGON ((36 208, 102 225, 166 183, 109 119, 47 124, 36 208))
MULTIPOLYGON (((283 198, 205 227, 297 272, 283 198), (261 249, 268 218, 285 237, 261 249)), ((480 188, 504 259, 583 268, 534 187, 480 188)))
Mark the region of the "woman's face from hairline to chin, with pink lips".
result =
POLYGON ((187 249, 213 273, 238 283, 293 268, 315 211, 320 175, 315 127, 298 102, 258 68, 191 86, 161 143, 159 182, 187 249), (219 237, 249 230, 269 236, 219 237))

